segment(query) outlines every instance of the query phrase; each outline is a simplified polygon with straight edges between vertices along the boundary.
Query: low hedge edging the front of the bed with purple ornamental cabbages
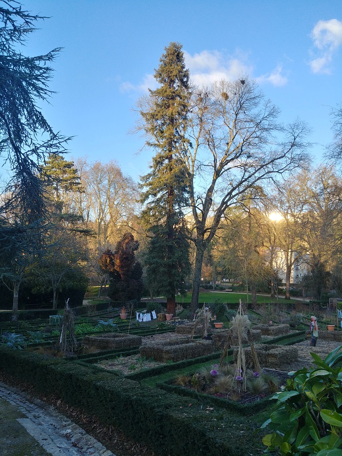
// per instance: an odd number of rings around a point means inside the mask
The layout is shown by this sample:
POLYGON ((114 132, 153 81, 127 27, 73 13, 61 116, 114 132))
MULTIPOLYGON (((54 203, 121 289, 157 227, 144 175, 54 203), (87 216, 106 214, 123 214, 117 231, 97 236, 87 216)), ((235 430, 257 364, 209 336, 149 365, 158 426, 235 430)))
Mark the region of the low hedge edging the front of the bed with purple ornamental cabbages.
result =
POLYGON ((241 413, 242 415, 250 416, 256 412, 266 409, 270 405, 270 397, 260 399, 251 404, 240 404, 239 402, 230 401, 221 397, 212 396, 203 392, 198 392, 188 388, 183 388, 179 385, 173 384, 174 379, 167 380, 165 382, 158 382, 157 388, 168 392, 179 394, 180 396, 187 396, 193 399, 197 399, 200 402, 207 402, 221 409, 230 410, 234 413, 241 413))

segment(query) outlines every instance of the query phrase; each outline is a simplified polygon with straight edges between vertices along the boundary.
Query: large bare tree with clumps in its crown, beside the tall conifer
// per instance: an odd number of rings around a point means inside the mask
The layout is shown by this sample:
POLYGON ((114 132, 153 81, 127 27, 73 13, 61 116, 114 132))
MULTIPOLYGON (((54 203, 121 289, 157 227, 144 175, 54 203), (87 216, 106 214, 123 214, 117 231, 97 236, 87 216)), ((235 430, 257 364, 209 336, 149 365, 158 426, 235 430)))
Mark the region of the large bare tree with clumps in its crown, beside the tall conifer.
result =
POLYGON ((196 249, 192 309, 198 304, 204 251, 227 208, 256 184, 276 180, 308 159, 307 126, 299 120, 284 126, 278 115, 247 77, 193 91, 192 147, 181 155, 190 180, 196 249))

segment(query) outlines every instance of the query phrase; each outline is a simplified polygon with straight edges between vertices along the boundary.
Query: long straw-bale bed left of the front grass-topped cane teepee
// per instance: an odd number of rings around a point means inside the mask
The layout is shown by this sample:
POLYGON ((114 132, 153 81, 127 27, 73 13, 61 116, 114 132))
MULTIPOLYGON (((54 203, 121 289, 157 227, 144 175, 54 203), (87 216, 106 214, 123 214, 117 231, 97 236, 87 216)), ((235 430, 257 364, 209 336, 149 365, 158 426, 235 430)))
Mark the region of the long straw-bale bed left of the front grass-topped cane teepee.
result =
MULTIPOLYGON (((174 341, 172 341, 174 342, 174 341)), ((213 353, 215 346, 213 341, 196 341, 182 344, 162 345, 158 343, 140 347, 140 356, 153 358, 154 361, 166 363, 167 361, 183 361, 213 353)))

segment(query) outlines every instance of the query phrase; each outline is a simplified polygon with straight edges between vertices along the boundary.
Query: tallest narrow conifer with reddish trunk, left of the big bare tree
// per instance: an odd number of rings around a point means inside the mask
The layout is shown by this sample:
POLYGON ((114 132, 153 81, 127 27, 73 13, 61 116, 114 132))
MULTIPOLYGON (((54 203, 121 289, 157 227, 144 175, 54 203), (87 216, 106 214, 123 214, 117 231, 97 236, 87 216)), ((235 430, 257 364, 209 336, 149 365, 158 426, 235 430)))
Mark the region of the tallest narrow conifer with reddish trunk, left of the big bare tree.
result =
POLYGON ((189 140, 189 71, 179 43, 170 43, 160 59, 154 78, 160 87, 150 90, 140 109, 147 146, 156 153, 150 173, 142 178, 147 203, 143 217, 150 225, 145 264, 152 288, 167 296, 168 313, 175 313, 175 293, 184 289, 189 273, 189 246, 181 222, 187 204, 187 173, 180 160, 189 140), (180 256, 182 258, 180 258, 180 256))

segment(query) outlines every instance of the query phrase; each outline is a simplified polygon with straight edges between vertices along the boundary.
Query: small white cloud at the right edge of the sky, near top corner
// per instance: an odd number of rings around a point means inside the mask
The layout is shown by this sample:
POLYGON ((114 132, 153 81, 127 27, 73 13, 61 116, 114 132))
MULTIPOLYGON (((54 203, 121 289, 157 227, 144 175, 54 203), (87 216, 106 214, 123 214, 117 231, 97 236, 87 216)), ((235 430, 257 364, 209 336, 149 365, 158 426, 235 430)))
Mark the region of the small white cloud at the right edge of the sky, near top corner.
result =
POLYGON ((342 44, 342 22, 337 19, 317 22, 311 38, 320 51, 320 55, 310 61, 311 70, 314 73, 330 73, 333 54, 342 44))

